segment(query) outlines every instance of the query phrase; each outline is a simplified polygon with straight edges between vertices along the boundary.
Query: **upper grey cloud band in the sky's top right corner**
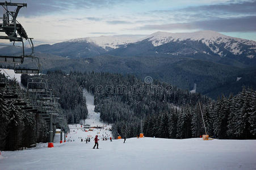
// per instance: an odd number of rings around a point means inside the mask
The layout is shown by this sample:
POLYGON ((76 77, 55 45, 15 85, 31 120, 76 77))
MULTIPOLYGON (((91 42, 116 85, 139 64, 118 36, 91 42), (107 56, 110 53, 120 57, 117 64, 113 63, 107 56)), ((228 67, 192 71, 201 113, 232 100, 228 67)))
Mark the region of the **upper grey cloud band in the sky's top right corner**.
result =
POLYGON ((146 12, 145 15, 157 15, 170 18, 170 21, 196 22, 203 19, 230 18, 233 16, 256 15, 256 0, 254 1, 230 1, 217 5, 191 6, 171 10, 155 10, 146 12))

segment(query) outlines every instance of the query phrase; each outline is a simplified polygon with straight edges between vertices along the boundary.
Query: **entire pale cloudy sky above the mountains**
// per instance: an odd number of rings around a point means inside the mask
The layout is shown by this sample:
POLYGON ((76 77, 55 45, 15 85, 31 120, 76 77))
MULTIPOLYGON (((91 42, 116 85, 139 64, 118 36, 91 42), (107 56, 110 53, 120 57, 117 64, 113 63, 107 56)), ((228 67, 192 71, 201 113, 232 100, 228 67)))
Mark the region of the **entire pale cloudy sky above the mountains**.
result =
MULTIPOLYGON (((18 21, 37 41, 156 31, 213 30, 256 41, 256 0, 16 0, 18 21)), ((2 15, 1 8, 1 15, 2 15)))

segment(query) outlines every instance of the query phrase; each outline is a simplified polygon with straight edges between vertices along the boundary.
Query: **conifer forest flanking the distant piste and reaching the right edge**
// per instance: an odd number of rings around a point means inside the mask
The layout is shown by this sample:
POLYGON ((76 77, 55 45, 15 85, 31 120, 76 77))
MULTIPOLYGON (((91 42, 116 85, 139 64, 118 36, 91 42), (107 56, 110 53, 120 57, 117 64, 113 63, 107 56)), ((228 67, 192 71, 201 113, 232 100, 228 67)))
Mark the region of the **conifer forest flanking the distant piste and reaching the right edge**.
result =
MULTIPOLYGON (((132 75, 70 73, 49 71, 43 75, 60 96, 69 123, 86 118, 82 90, 94 95, 95 111, 104 122, 113 124, 114 137, 192 138, 205 134, 219 139, 256 138, 256 92, 250 88, 236 96, 207 96, 181 90, 170 84, 142 81, 132 75), (200 112, 200 106, 202 114, 200 112)), ((26 76, 22 76, 26 84, 26 76)))

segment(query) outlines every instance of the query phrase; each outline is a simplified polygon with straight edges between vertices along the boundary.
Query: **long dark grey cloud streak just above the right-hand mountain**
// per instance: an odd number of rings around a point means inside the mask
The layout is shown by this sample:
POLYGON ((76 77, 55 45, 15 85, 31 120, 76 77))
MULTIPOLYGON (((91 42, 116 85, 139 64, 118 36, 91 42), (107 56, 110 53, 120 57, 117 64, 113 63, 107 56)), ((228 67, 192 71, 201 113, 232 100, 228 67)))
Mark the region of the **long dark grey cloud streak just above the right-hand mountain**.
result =
POLYGON ((171 23, 161 25, 144 25, 139 29, 203 29, 218 32, 254 32, 256 31, 256 16, 246 16, 241 18, 204 20, 200 22, 171 23))

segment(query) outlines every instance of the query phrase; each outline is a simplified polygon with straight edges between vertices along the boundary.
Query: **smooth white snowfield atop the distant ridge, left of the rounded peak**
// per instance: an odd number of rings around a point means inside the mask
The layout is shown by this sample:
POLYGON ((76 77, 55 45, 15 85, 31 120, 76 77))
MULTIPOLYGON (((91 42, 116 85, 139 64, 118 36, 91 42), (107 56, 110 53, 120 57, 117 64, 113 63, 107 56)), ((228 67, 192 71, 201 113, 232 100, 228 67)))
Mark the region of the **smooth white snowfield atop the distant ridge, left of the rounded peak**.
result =
POLYGON ((115 36, 99 36, 99 37, 85 37, 82 39, 73 39, 68 42, 91 42, 98 45, 104 49, 112 48, 116 49, 120 45, 129 44, 131 42, 136 42, 141 36, 136 35, 115 35, 115 36))

